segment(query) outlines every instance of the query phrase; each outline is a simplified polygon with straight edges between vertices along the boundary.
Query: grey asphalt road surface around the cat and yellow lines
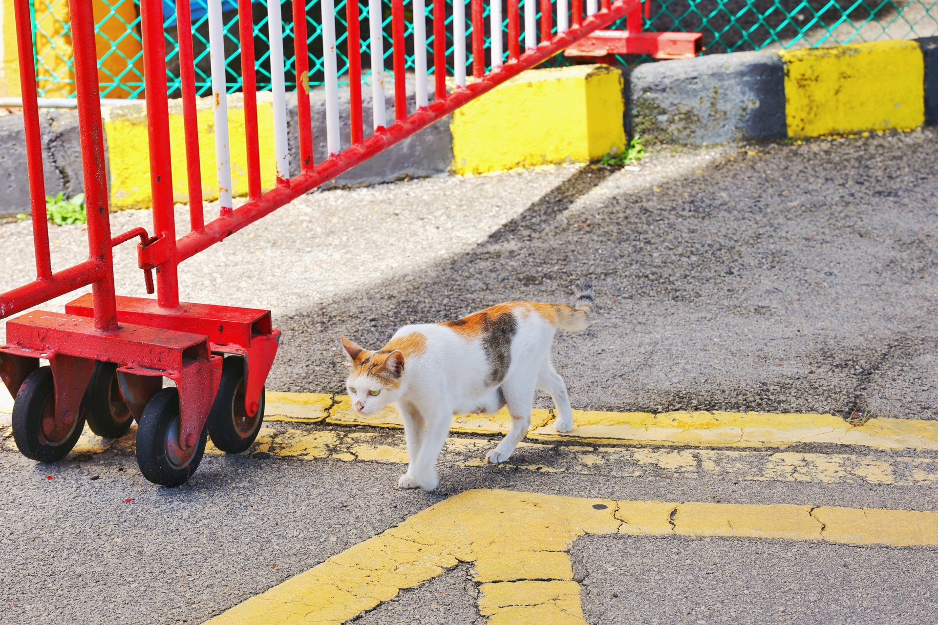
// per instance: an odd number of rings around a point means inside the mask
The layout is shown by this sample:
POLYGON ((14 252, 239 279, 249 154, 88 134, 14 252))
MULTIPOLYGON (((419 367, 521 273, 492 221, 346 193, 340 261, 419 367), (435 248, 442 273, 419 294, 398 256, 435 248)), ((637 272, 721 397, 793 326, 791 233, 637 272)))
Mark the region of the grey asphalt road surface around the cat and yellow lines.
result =
MULTIPOLYGON (((184 264, 182 297, 272 308, 284 335, 268 389, 340 392, 339 335, 377 347, 404 323, 565 302, 587 277, 598 320, 554 350, 574 408, 933 420, 936 148, 926 129, 659 152, 639 172, 567 166, 317 192, 184 264)), ((112 218, 116 232, 150 216, 112 218)), ((57 266, 83 258, 80 227, 52 236, 57 266)), ((0 226, 0 240, 6 290, 30 278, 28 222, 0 226)), ((115 255, 118 291, 144 294, 131 247, 115 255)), ((206 456, 189 484, 163 489, 127 453, 50 466, 3 451, 0 622, 199 623, 469 488, 935 507, 929 481, 620 469, 454 464, 428 494, 394 488, 400 465, 250 454, 206 456)), ((938 608, 934 548, 589 537, 571 553, 594 625, 927 623, 938 608)), ((482 622, 475 593, 461 565, 359 620, 482 622)))

